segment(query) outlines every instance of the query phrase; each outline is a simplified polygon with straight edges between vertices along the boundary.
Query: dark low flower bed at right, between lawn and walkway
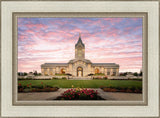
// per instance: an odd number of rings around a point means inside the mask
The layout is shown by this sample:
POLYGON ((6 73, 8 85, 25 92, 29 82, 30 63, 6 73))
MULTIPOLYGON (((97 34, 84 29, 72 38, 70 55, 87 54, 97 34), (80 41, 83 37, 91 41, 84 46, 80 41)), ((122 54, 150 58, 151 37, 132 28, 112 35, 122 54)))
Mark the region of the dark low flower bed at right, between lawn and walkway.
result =
POLYGON ((142 88, 121 88, 121 87, 100 87, 105 92, 126 92, 126 93, 142 93, 142 88))

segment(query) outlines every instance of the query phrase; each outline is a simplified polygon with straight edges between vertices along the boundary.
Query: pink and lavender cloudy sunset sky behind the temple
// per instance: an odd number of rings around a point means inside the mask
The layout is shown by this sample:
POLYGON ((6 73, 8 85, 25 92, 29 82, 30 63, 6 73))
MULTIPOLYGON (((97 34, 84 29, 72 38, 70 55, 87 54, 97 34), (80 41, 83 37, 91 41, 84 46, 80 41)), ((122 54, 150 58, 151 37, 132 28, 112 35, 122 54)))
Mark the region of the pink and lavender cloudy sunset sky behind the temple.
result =
POLYGON ((74 59, 79 33, 92 63, 142 69, 142 18, 18 18, 18 72, 74 59))

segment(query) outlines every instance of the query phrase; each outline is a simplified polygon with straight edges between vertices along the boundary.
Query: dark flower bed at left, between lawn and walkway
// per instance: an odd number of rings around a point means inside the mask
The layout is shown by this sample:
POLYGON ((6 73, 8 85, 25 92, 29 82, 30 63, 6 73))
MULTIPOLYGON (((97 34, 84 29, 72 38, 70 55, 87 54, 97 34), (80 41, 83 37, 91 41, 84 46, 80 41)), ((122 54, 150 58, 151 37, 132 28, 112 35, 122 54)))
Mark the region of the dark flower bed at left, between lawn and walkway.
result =
POLYGON ((45 86, 43 83, 41 84, 42 86, 32 86, 31 83, 27 86, 22 86, 19 84, 18 92, 55 92, 59 89, 58 87, 45 86))

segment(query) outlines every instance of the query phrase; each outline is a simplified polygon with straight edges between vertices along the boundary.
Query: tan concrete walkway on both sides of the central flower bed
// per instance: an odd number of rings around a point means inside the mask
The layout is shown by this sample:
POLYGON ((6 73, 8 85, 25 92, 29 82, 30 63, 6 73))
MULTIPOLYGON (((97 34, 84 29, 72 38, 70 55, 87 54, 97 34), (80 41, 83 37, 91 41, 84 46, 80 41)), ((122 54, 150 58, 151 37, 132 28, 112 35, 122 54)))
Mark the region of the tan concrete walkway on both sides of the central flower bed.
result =
MULTIPOLYGON (((33 92, 33 93, 18 93, 19 101, 38 101, 38 100, 54 100, 67 89, 59 89, 56 92, 33 92)), ((121 93, 121 92, 104 92, 101 89, 97 90, 99 95, 106 100, 117 101, 140 101, 142 94, 137 93, 121 93)))

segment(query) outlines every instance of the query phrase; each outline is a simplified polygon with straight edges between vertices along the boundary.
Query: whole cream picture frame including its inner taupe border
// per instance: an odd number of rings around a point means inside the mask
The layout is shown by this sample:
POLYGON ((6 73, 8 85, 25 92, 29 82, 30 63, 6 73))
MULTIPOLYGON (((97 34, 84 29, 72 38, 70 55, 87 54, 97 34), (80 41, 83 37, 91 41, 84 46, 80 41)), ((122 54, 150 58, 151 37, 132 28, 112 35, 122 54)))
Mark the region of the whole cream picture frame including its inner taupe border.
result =
POLYGON ((1 1, 2 117, 159 117, 159 1, 1 1), (137 7, 141 5, 142 7, 137 7), (18 102, 16 18, 143 17, 143 102, 18 102), (96 15, 95 15, 96 14, 96 15), (152 24, 154 22, 154 24, 152 24), (154 41, 153 41, 154 40, 154 41), (147 58, 145 58, 147 57, 147 58), (6 79, 4 79, 6 78, 6 79), (152 79, 151 79, 152 78, 152 79), (48 104, 48 105, 46 105, 48 104), (52 110, 51 110, 52 109, 52 110), (96 110, 95 110, 96 109, 96 110), (29 114, 26 112, 28 111, 29 114), (94 112, 93 112, 94 111, 94 112), (140 112, 141 111, 141 112, 140 112), (63 113, 63 114, 62 114, 63 113))

